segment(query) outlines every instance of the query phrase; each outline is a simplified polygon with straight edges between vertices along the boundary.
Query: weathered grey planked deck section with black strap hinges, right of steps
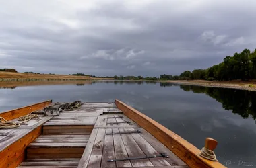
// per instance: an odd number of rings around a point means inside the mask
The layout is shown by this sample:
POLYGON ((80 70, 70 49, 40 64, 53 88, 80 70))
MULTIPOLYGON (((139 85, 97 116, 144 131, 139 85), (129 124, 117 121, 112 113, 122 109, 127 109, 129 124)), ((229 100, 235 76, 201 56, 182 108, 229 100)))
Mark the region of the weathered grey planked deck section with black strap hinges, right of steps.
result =
POLYGON ((103 114, 98 116, 94 131, 94 145, 86 146, 79 168, 86 167, 187 167, 176 155, 161 144, 154 136, 140 128, 123 114, 103 114), (121 117, 120 117, 121 116, 121 117), (122 123, 129 121, 130 123, 122 123), (121 122, 119 124, 108 124, 121 122), (136 128, 136 129, 135 129, 136 128), (141 133, 110 134, 141 130, 141 133), (104 133, 103 133, 104 132, 104 133), (96 135, 95 135, 96 134, 96 135), (98 143, 99 142, 99 143, 98 143), (97 145, 96 145, 97 144, 97 145), (91 152, 90 152, 91 151, 91 152), (108 159, 125 159, 129 157, 145 157, 167 153, 170 158, 156 157, 127 161, 107 162, 108 159))

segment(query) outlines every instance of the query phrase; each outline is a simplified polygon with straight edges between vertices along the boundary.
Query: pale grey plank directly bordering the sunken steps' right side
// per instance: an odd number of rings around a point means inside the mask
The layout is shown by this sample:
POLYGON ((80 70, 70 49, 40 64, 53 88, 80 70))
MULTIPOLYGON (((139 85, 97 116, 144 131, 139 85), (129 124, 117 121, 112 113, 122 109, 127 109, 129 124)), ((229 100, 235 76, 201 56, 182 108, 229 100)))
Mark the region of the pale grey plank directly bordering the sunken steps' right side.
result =
POLYGON ((98 133, 98 129, 92 130, 92 134, 90 135, 90 138, 87 142, 86 149, 84 149, 84 153, 81 157, 81 160, 79 161, 79 165, 78 165, 79 168, 86 168, 88 166, 88 162, 90 159, 90 155, 92 153, 92 148, 94 146, 97 133, 98 133))

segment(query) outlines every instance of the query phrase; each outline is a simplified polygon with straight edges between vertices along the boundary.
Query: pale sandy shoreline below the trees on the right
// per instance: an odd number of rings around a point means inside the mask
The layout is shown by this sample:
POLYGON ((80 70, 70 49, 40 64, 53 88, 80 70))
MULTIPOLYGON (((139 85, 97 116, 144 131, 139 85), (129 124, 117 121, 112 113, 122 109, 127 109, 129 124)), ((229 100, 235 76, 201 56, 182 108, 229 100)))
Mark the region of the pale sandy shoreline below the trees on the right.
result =
POLYGON ((256 81, 205 81, 205 80, 182 81, 182 80, 178 80, 178 81, 158 81, 158 82, 256 91, 256 81))

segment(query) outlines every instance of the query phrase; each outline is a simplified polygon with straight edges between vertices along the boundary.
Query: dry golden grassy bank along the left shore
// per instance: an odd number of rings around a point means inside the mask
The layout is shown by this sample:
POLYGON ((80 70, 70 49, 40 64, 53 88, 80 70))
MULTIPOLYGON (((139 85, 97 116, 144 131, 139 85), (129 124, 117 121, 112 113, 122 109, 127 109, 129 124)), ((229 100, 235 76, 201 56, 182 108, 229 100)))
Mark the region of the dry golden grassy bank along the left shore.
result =
MULTIPOLYGON (((33 73, 11 73, 0 71, 0 81, 11 80, 100 80, 104 78, 94 78, 88 76, 75 76, 75 75, 49 75, 49 74, 33 74, 33 73)), ((110 78, 108 78, 110 79, 110 78)))

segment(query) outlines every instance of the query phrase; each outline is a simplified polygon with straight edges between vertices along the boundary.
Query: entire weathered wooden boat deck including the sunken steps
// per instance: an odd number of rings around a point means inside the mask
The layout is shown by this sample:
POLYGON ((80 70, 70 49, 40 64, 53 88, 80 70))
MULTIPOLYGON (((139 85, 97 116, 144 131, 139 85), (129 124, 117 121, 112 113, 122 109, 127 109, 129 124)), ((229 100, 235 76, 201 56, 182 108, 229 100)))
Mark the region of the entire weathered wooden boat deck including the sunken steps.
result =
POLYGON ((40 116, 39 121, 30 120, 19 128, 0 129, 0 167, 189 167, 123 112, 116 103, 84 103, 59 116, 40 116), (169 157, 108 162, 160 153, 169 157))

